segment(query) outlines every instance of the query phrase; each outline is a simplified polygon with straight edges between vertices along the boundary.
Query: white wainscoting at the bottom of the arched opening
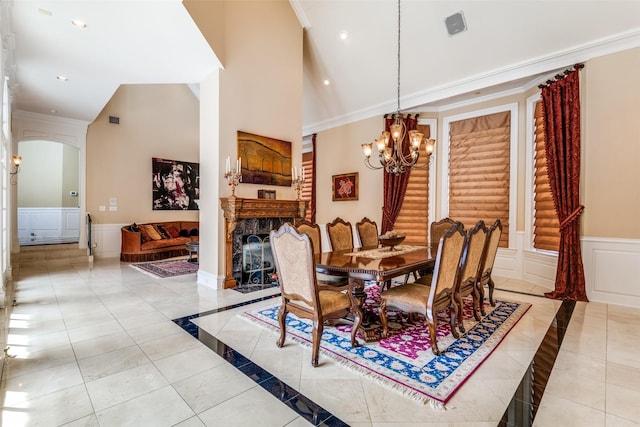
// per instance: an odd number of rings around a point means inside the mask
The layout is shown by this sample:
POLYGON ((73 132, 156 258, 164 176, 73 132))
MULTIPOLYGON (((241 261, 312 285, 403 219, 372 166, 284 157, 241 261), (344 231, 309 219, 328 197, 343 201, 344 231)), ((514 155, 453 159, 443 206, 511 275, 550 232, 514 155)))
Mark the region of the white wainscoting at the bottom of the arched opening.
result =
POLYGON ((18 208, 20 246, 76 243, 79 239, 79 208, 18 208))

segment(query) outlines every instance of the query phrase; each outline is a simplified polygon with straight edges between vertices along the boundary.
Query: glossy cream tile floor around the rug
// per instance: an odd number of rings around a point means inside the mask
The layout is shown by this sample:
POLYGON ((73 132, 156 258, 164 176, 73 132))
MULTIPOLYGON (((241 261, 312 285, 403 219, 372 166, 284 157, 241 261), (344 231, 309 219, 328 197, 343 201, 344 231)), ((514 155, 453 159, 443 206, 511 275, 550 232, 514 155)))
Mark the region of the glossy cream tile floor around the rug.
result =
POLYGON ((16 305, 2 311, 15 356, 3 370, 5 426, 302 426, 310 425, 310 404, 322 408, 311 419, 320 425, 640 425, 639 309, 575 305, 531 421, 526 408, 510 402, 519 384, 528 384, 561 302, 523 281, 497 278, 510 291, 496 296, 533 306, 442 410, 322 354, 314 369, 308 348, 288 341, 279 349, 273 332, 238 317, 273 299, 243 302, 277 289, 214 291, 197 286, 194 275, 154 279, 117 260, 21 255, 13 271, 16 305), (173 321, 197 313, 200 339, 173 321), (237 369, 239 360, 248 364, 237 369), (283 403, 247 366, 300 396, 283 403))

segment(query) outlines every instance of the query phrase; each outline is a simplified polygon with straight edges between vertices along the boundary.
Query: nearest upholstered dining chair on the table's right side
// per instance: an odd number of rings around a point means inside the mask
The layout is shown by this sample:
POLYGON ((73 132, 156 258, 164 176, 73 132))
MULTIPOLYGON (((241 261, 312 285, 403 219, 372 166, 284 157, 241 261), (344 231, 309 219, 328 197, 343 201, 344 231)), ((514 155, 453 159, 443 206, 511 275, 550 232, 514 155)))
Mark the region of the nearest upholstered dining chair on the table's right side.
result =
POLYGON ((435 355, 440 354, 436 339, 438 311, 449 309, 451 334, 455 338, 459 337, 456 330, 458 305, 454 299, 454 293, 464 241, 465 233, 462 224, 456 222, 440 238, 432 274, 420 277, 418 281, 421 283, 396 286, 380 295, 380 321, 384 337, 389 335, 386 313, 389 308, 426 316, 431 337, 431 350, 435 355))

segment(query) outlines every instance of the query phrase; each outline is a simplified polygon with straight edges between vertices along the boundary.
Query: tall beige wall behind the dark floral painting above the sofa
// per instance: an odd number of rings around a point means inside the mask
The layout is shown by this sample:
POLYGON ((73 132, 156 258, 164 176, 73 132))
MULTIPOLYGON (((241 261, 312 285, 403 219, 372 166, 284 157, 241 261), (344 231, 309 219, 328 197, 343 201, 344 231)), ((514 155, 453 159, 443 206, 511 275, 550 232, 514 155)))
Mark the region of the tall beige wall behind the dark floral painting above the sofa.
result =
POLYGON ((152 210, 151 185, 153 157, 199 162, 198 111, 186 85, 120 86, 87 131, 87 211, 96 224, 198 219, 198 211, 152 210))

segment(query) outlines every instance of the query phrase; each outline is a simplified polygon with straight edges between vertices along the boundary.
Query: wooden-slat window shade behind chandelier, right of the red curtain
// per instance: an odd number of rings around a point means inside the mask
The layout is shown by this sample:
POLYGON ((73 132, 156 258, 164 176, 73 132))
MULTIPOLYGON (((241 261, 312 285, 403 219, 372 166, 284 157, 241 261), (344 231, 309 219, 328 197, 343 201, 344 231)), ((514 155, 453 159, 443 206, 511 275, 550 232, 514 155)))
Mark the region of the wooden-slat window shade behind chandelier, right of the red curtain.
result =
MULTIPOLYGON (((431 138, 429 125, 418 125, 424 139, 431 138)), ((417 168, 411 170, 407 192, 393 230, 404 233, 405 244, 426 245, 429 235, 429 157, 424 154, 424 141, 420 147, 417 168)))

